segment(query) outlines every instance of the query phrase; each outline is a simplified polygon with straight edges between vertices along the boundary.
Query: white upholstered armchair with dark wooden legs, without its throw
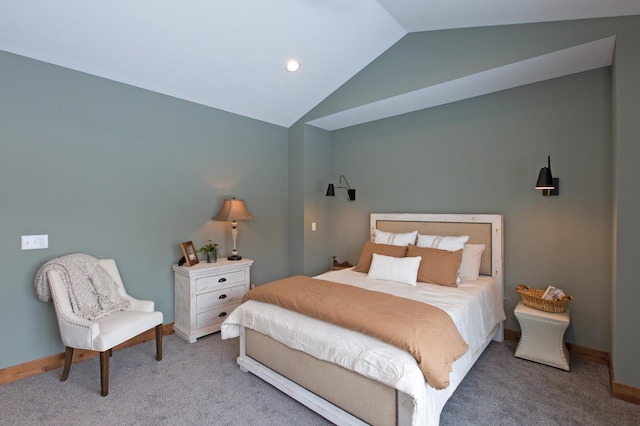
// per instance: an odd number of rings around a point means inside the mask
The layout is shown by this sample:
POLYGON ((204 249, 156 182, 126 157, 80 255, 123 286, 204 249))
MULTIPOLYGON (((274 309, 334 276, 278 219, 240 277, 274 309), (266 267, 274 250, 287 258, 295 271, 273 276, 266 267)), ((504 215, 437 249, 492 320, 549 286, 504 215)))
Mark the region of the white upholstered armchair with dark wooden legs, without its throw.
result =
POLYGON ((109 357, 115 346, 155 327, 156 359, 162 360, 162 312, 154 311, 153 301, 138 300, 127 294, 115 260, 99 259, 98 262, 115 281, 118 293, 129 300, 131 310, 112 312, 95 321, 79 317, 73 313, 69 293, 60 274, 51 270, 47 272, 47 276, 60 327, 60 337, 66 346, 64 369, 60 381, 64 382, 69 376, 74 348, 98 351, 100 352, 101 394, 107 396, 109 357))

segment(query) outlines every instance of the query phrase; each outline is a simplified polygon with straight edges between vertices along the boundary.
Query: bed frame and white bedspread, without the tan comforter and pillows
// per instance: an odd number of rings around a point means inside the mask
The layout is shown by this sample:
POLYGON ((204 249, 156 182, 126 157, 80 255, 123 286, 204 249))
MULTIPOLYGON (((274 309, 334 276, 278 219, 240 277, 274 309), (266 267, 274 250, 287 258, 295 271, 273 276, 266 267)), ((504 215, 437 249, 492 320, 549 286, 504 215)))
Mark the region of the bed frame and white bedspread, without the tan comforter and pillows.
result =
MULTIPOLYGON (((268 303, 249 300, 224 321, 222 338, 240 337, 238 364, 338 425, 437 425, 457 386, 491 340, 502 341, 501 215, 371 214, 371 238, 381 234, 469 236, 484 245, 477 279, 452 287, 416 286, 370 278, 346 268, 319 275, 400 297, 428 301, 449 314, 469 349, 453 362, 449 383, 425 382, 406 351, 374 337, 268 303)), ((465 245, 465 248, 467 246, 465 245)))

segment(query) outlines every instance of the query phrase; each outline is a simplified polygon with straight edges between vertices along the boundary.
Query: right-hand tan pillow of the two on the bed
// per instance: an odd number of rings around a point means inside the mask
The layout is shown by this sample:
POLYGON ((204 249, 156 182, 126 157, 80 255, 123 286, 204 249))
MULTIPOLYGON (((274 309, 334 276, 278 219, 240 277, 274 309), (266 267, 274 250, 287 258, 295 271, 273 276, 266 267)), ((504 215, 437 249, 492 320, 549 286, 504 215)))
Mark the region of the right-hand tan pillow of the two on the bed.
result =
POLYGON ((418 281, 423 283, 457 287, 458 270, 462 261, 462 250, 448 251, 409 244, 407 257, 422 257, 418 268, 418 281))

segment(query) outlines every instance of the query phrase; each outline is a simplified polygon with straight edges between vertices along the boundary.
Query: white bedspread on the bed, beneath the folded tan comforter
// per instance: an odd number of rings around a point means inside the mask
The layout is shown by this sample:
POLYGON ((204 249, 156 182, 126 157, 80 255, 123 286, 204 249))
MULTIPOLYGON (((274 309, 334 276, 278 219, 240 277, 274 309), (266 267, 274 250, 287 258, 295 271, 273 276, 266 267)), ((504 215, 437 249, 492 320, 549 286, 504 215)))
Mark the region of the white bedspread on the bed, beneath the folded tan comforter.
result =
POLYGON ((423 301, 446 311, 469 345, 454 363, 451 384, 440 391, 428 386, 415 359, 395 346, 278 306, 243 303, 222 324, 222 338, 237 337, 240 326, 267 335, 284 345, 304 351, 404 392, 414 401, 413 424, 437 425, 440 412, 460 384, 495 326, 505 319, 502 293, 490 277, 462 282, 458 287, 418 283, 417 287, 371 280, 351 269, 317 276, 369 290, 423 301))

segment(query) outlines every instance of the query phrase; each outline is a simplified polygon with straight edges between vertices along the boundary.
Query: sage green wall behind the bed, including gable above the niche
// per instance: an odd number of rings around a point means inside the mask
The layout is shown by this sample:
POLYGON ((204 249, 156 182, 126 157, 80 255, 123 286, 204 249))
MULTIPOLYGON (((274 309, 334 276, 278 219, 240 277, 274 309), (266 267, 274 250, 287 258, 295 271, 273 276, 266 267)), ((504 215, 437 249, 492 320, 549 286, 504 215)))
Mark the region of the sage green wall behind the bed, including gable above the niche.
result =
POLYGON ((611 351, 640 388, 640 17, 408 34, 301 121, 611 35, 610 68, 332 132, 328 173, 358 199, 331 211, 328 252, 356 261, 371 212, 502 213, 507 326, 518 283, 563 286, 567 340, 611 351), (551 199, 531 189, 547 154, 551 199))

